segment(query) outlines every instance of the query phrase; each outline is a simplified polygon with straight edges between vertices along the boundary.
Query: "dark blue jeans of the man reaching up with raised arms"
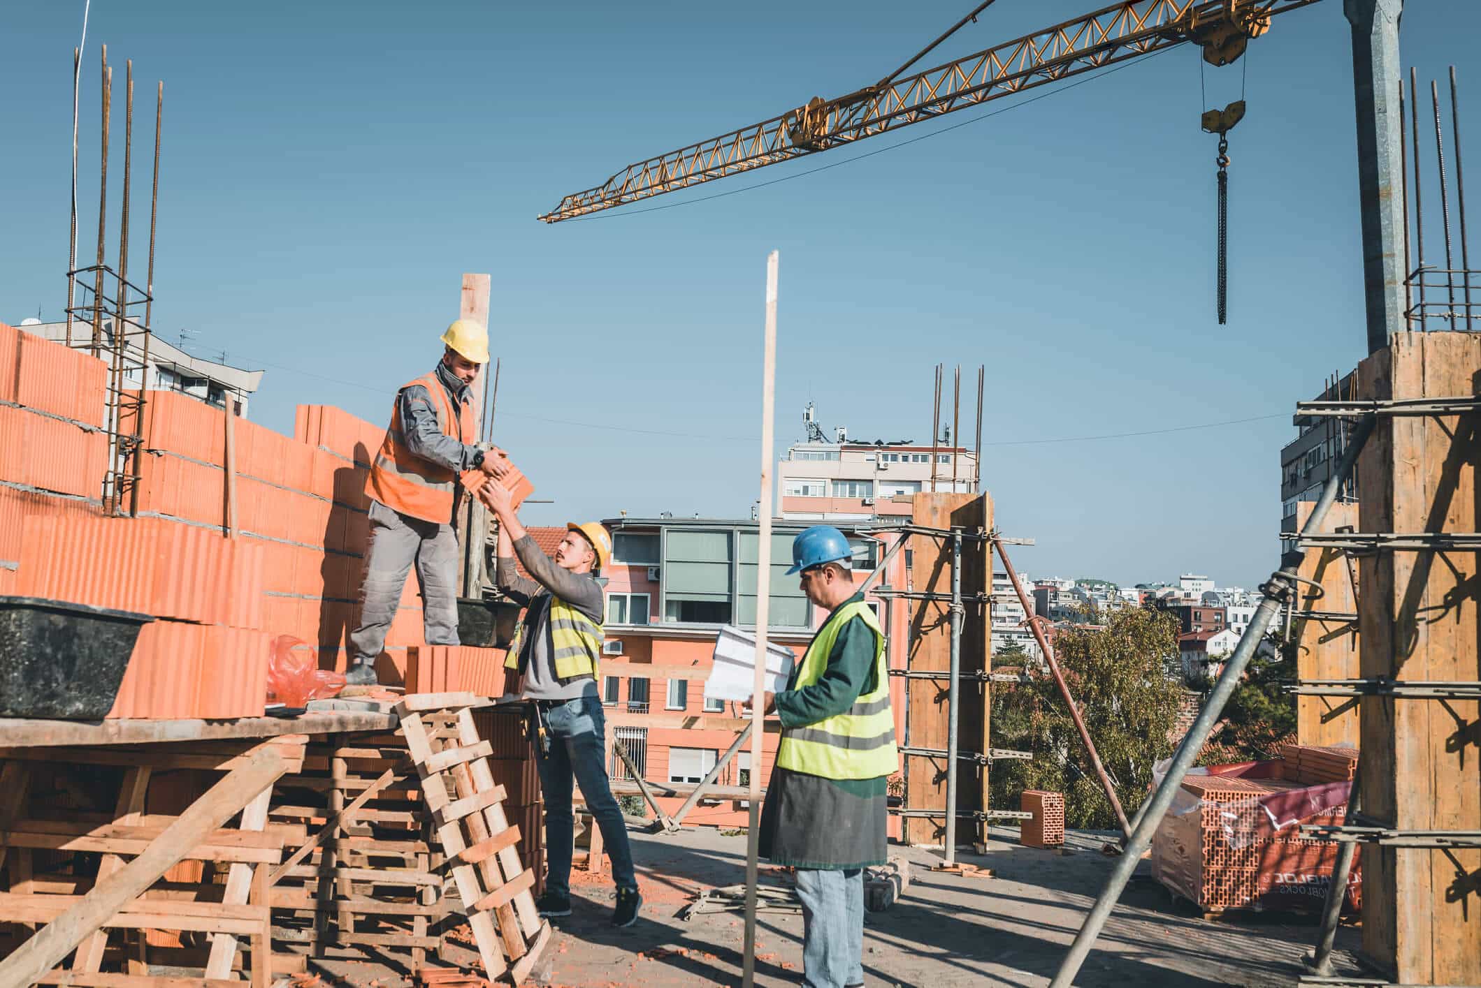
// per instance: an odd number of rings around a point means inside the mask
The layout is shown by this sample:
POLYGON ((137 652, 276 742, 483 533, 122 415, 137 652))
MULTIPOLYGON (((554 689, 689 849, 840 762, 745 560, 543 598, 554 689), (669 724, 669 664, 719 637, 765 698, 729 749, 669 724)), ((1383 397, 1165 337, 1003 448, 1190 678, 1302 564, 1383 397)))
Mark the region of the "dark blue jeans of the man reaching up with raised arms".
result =
MULTIPOLYGON (((607 782, 606 717, 601 703, 595 698, 578 698, 564 704, 542 708, 545 729, 551 740, 549 754, 535 745, 535 766, 541 774, 541 791, 545 799, 545 889, 555 895, 570 895, 570 853, 575 831, 575 816, 570 812, 572 781, 581 785, 607 855, 612 858, 612 880, 619 889, 637 889, 638 879, 632 871, 632 847, 628 845, 628 825, 622 819, 622 808, 612 797, 607 782)), ((860 893, 862 893, 860 886, 860 893)), ((860 899, 862 902, 862 899, 860 899)))

